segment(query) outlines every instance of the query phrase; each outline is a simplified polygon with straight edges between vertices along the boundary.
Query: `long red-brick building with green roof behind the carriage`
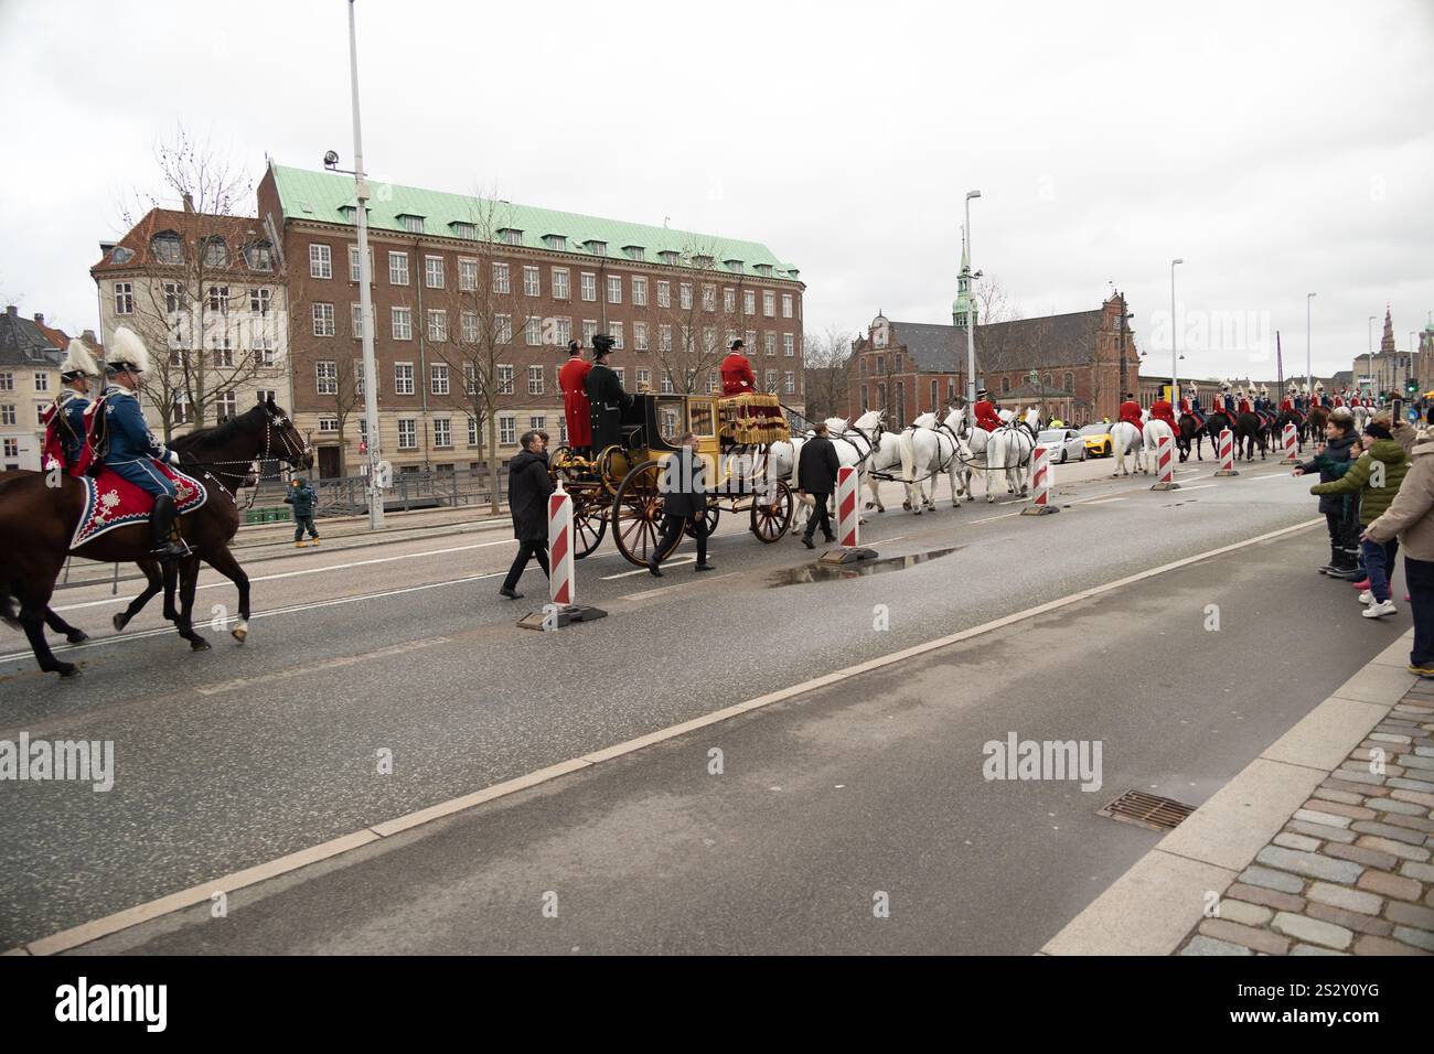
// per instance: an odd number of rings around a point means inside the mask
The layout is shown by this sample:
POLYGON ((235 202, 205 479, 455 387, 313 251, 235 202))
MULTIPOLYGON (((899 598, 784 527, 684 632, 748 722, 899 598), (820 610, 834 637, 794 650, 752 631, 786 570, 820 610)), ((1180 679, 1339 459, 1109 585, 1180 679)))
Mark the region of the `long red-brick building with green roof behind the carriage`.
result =
MULTIPOLYGON (((353 179, 271 163, 261 221, 285 268, 294 419, 320 475, 363 460, 353 179)), ((627 389, 718 390, 728 343, 802 407, 802 293, 757 242, 371 184, 380 449, 397 470, 465 469, 542 427, 565 440, 566 344, 607 331, 627 389)))

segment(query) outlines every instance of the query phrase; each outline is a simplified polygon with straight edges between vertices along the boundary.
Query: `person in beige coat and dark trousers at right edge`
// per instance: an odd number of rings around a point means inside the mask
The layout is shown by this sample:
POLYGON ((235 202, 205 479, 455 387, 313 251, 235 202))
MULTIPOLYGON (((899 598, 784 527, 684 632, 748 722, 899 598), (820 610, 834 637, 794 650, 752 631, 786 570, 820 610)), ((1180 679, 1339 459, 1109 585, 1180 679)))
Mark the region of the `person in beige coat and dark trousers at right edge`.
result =
MULTIPOLYGON (((1410 443, 1414 430, 1400 423, 1394 437, 1410 443), (1402 433, 1402 435, 1401 435, 1402 433)), ((1410 673, 1434 678, 1434 430, 1412 439, 1410 470, 1390 508, 1364 529, 1362 538, 1404 546, 1404 582, 1414 614, 1414 648, 1410 673)))

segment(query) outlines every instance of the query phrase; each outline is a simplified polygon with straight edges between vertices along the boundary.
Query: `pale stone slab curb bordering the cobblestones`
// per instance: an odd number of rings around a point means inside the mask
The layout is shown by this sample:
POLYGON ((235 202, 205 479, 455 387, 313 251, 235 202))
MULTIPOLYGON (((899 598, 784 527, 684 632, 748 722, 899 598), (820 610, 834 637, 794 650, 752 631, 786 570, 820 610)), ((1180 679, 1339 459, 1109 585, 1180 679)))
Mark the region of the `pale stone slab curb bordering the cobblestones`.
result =
POLYGON ((1309 793, 1418 683, 1402 634, 1260 751, 1041 948, 1044 955, 1172 955, 1309 793))

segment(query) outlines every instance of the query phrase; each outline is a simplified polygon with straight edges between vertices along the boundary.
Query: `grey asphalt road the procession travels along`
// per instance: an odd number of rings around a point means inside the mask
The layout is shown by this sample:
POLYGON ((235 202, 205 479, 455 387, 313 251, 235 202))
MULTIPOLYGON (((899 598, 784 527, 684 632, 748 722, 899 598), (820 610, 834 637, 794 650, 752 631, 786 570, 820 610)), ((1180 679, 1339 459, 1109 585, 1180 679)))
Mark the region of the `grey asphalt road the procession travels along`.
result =
MULTIPOLYGON (((1213 467, 1152 493, 1106 479, 1108 463, 1070 466, 1057 516, 872 516, 882 556, 955 551, 846 581, 782 585, 809 554, 733 523, 700 579, 627 574, 605 543, 578 574, 609 617, 559 634, 515 628, 492 581, 512 542, 485 532, 251 564, 244 647, 212 632, 191 655, 142 632, 156 609, 75 650, 85 677, 62 684, 11 658, 11 637, 0 739, 112 740, 118 774, 105 794, 0 784, 0 944, 1312 519, 1306 485, 1273 462, 1213 467)), ((239 893, 235 925, 178 918, 106 945, 1034 951, 1156 839, 1094 817, 1107 790, 1197 804, 1407 627, 1358 618, 1348 587, 1312 572, 1322 558, 1318 531, 1216 556, 239 893), (1220 632, 1202 628, 1207 604, 1220 632), (1012 730, 1103 740, 1103 790, 985 783, 979 743, 1012 730), (706 770, 714 736, 723 777, 706 770), (542 928, 535 888, 572 906, 561 926, 542 928), (878 889, 909 908, 872 929, 878 889)), ((115 609, 108 587, 63 602, 86 628, 115 609)))

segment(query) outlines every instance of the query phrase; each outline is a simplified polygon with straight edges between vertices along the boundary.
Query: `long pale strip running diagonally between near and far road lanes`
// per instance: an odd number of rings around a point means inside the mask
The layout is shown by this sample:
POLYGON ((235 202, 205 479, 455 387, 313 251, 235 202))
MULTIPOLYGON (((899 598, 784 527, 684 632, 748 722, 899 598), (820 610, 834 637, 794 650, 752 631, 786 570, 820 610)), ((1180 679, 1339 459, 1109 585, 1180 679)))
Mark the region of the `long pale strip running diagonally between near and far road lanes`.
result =
MULTIPOLYGON (((981 625, 972 627, 969 630, 961 630, 959 632, 948 634, 945 637, 938 637, 936 640, 926 641, 925 644, 916 644, 909 648, 902 648, 901 651, 893 651, 889 655, 880 655, 879 658, 868 660, 866 663, 858 663, 856 665, 846 667, 845 670, 837 670, 836 673, 823 674, 822 677, 813 677, 812 680, 793 684, 787 688, 779 688, 777 691, 767 693, 766 695, 757 695, 746 703, 737 703, 734 706, 726 707, 723 710, 716 710, 710 714, 703 714, 701 717, 694 717, 690 721, 683 721, 680 724, 668 726, 667 728, 660 728, 658 731, 648 733, 645 736, 638 736, 637 739, 627 740, 625 743, 617 743, 611 747, 604 747, 581 757, 574 757, 566 761, 559 761, 558 764, 548 766, 546 769, 539 769, 538 771, 528 773, 526 776, 519 776, 513 780, 506 780, 505 783, 498 783, 483 790, 478 790, 460 797, 449 799, 447 802, 440 802, 427 809, 420 809, 417 812, 407 813, 404 816, 397 816, 391 820, 384 820, 381 823, 374 823, 369 827, 357 830, 351 835, 334 839, 331 842, 324 842, 321 845, 313 846, 311 849, 303 849, 297 853, 290 853, 288 856, 281 856, 275 860, 268 860, 267 863, 255 865, 254 868, 247 868, 244 870, 235 872, 232 875, 215 878, 201 886, 191 886, 189 889, 169 893, 155 901, 148 901, 145 903, 135 905, 133 908, 126 908, 113 915, 106 915, 103 918, 95 919, 92 922, 85 922, 79 926, 60 931, 46 938, 37 941, 30 941, 24 945, 24 951, 32 955, 54 955, 57 952, 69 951, 72 948, 79 948, 92 941, 98 941, 102 936, 109 936, 118 934, 130 926, 139 925, 141 922, 149 922, 152 919, 169 915, 171 912, 181 911, 184 908, 194 906, 196 903, 205 903, 211 899, 215 891, 225 891, 232 893, 237 889, 245 886, 252 886, 265 879, 275 878, 277 875, 284 875, 308 863, 317 863, 320 860, 333 859, 347 853, 350 849, 356 849, 363 845, 389 837, 402 830, 412 830, 413 827, 423 826, 432 820, 452 816, 455 813, 472 809, 485 802, 492 802, 508 794, 518 793, 521 790, 528 790, 531 787, 548 783, 561 776, 569 773, 591 769, 602 761, 611 761, 617 757, 624 757, 625 754, 635 753, 645 747, 655 746, 665 740, 674 739, 677 736, 684 736, 688 731, 695 731, 698 728, 706 728, 713 724, 720 724, 733 717, 750 713, 753 710, 760 710, 763 707, 773 706, 774 703, 782 703, 796 695, 804 695, 817 688, 825 688, 832 684, 839 684, 849 677, 858 677, 860 674, 870 673, 873 670, 880 670, 888 665, 895 665, 908 658, 916 658, 939 648, 949 647, 952 644, 959 644, 968 641, 974 637, 992 632, 995 630, 1002 630, 1008 625, 1022 622, 1037 615, 1044 615, 1050 611, 1057 611, 1060 608, 1070 607, 1071 604, 1080 604, 1081 601, 1090 599, 1091 597, 1100 597, 1116 589, 1121 589, 1127 585, 1134 585, 1136 582, 1143 582, 1147 578, 1154 578, 1156 575, 1163 575, 1170 571, 1179 571, 1180 568, 1199 564, 1200 561, 1210 559, 1213 556, 1222 556, 1228 552, 1235 552, 1250 545, 1259 545, 1260 542, 1268 542, 1273 538, 1283 538, 1299 531, 1308 531, 1312 526, 1322 525, 1324 516, 1318 519, 1309 519, 1302 523, 1295 523, 1293 526, 1281 528, 1279 531, 1271 531, 1255 538, 1246 538, 1243 542, 1233 542, 1232 545, 1220 546, 1219 549, 1210 549, 1207 552, 1196 554, 1195 556, 1184 556, 1182 559, 1173 561, 1170 564, 1162 564, 1157 568, 1150 568, 1147 571, 1136 572, 1134 575, 1127 575, 1124 578, 1117 578, 1113 582, 1104 582, 1103 585, 1091 587, 1090 589, 1081 589, 1080 592, 1073 592, 1065 597, 1060 597, 1054 601, 1047 601, 1045 604, 1038 604, 1034 608, 1025 608, 1024 611, 1017 611, 1011 615, 1004 615, 1002 618, 992 619, 989 622, 982 622, 981 625)), ((427 588, 427 587, 416 587, 427 588)), ((29 652, 26 652, 29 654, 29 652)))

